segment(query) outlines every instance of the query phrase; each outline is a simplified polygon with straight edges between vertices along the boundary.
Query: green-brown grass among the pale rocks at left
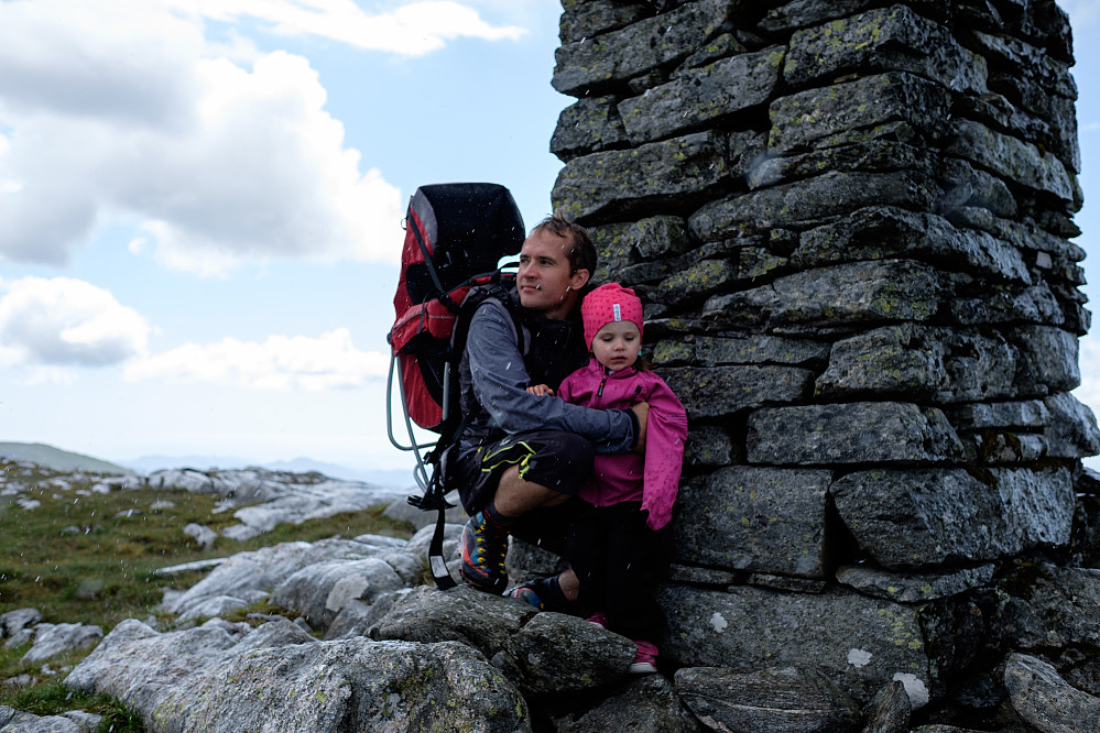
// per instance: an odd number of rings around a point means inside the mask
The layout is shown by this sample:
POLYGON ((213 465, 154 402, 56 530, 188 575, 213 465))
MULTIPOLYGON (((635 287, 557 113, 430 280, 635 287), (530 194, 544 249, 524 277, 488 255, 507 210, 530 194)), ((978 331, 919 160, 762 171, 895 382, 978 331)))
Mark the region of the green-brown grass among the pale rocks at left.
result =
MULTIPOLYGON (((7 468, 0 461, 0 472, 7 468)), ((53 475, 47 471, 41 478, 53 475)), ((33 478, 23 474, 19 480, 26 485, 33 478)), ((167 489, 110 493, 89 489, 79 482, 68 490, 43 481, 22 489, 18 497, 0 496, 0 614, 34 608, 46 623, 94 624, 107 633, 124 619, 154 614, 165 589, 185 590, 209 572, 157 576, 154 571, 160 568, 282 541, 362 534, 410 536, 409 525, 382 516, 384 507, 377 506, 301 525, 279 525, 243 543, 219 536, 211 547, 203 548, 183 528, 192 522, 215 530, 237 524, 232 510, 219 511, 220 497, 167 489), (41 503, 24 508, 28 500, 41 503)), ((20 661, 28 648, 0 645, 0 680, 20 675, 33 680, 21 689, 0 688, 0 704, 34 714, 79 708, 109 714, 116 732, 142 730, 140 719, 116 701, 97 698, 88 702, 59 683, 56 670, 77 664, 88 650, 50 659, 46 667, 55 670, 50 674, 20 661), (134 722, 127 722, 131 718, 134 722)))

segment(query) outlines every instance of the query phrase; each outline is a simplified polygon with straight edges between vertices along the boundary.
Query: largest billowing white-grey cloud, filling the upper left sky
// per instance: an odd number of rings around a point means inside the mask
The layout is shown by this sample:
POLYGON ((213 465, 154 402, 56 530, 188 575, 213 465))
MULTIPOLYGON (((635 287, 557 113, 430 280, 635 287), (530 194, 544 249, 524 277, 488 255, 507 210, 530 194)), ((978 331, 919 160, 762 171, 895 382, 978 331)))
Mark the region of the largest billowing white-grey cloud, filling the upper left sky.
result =
POLYGON ((360 172, 308 61, 204 44, 153 2, 0 2, 0 261, 65 264, 120 218, 203 275, 395 261, 403 196, 360 172))

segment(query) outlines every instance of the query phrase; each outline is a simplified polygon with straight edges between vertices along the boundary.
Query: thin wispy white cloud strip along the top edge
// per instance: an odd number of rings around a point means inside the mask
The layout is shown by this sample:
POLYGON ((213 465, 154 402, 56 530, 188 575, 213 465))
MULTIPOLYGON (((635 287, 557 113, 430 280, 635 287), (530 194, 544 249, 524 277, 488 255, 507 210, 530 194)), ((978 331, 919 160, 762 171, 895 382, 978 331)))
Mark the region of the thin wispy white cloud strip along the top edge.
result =
POLYGON ((176 9, 235 22, 253 18, 281 35, 316 35, 359 48, 420 56, 459 37, 519 40, 526 30, 492 26, 459 2, 412 2, 389 12, 368 13, 352 0, 168 0, 176 9))

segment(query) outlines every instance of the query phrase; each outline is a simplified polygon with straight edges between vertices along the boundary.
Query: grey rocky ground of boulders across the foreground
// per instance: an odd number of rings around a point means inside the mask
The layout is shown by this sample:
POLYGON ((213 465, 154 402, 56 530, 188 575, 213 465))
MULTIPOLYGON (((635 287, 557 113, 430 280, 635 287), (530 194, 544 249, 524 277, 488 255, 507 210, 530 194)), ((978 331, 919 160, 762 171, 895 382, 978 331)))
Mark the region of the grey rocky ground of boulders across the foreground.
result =
MULTIPOLYGON (((453 570, 460 528, 446 525, 453 570)), ((26 609, 0 616, 0 628, 9 644, 32 638, 28 656, 46 664, 98 644, 64 683, 119 698, 150 731, 968 730, 911 727, 926 700, 904 680, 861 704, 808 666, 665 665, 630 676, 633 644, 599 626, 465 587, 425 586, 433 530, 232 555, 165 597, 171 623, 129 620, 100 638, 98 628, 43 623, 26 609), (285 615, 222 620, 262 600, 285 615)), ((1097 730, 1086 721, 1100 720, 1100 699, 1038 658, 1012 655, 1003 681, 1017 718, 998 730, 1097 730)), ((78 733, 95 723, 80 711, 39 718, 0 708, 0 733, 78 733)))

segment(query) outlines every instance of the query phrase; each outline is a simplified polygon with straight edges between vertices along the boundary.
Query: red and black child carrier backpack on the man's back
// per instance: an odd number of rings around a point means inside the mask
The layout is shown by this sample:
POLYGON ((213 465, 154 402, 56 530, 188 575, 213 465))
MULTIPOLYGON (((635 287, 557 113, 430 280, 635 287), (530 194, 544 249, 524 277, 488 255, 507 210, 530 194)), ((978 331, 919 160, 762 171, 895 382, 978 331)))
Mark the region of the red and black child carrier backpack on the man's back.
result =
MULTIPOLYGON (((438 511, 428 560, 443 589, 455 584, 443 558, 444 512, 454 506, 445 497, 446 455, 466 429, 458 364, 470 319, 481 303, 497 298, 515 319, 508 297, 514 275, 502 272, 498 263, 519 253, 523 237, 523 219, 512 194, 497 184, 421 186, 409 201, 393 297, 395 319, 388 336, 386 427, 390 442, 416 458, 413 474, 423 494, 410 496, 409 503, 438 511), (394 375, 407 445, 393 435, 394 375), (414 424, 438 438, 420 442, 414 424), (426 449, 432 450, 422 455, 426 449)), ((519 326, 516 333, 522 338, 519 326)))

